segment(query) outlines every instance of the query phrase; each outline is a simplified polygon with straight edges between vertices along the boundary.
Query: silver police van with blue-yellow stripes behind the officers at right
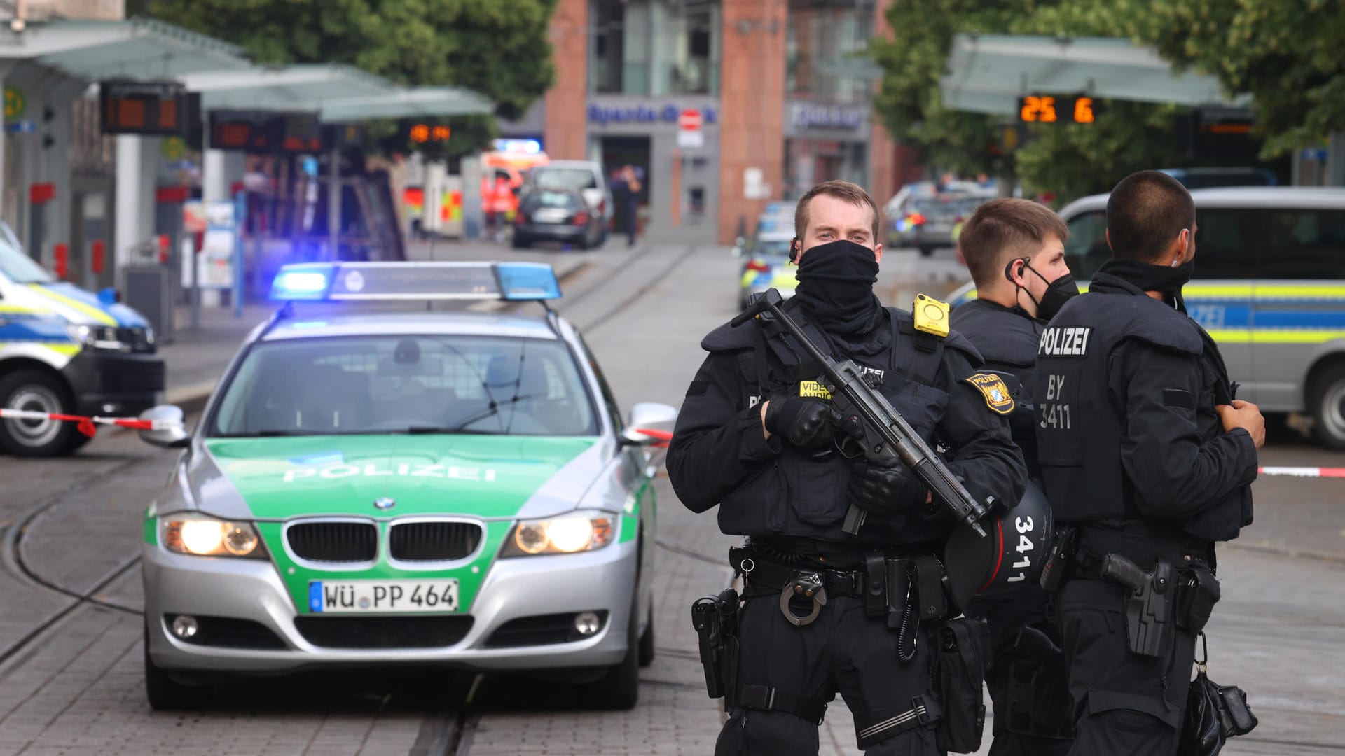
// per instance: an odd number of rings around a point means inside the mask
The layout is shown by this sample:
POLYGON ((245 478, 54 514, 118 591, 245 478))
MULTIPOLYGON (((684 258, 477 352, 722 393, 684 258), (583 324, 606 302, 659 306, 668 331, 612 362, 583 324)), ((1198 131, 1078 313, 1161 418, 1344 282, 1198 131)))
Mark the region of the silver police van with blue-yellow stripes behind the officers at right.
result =
MULTIPOLYGON (((1345 449, 1345 188, 1193 190, 1196 277, 1186 309, 1219 343, 1237 397, 1303 413, 1345 449)), ((1087 281, 1111 257, 1107 195, 1067 204, 1065 261, 1087 281)), ((971 285, 952 301, 975 296, 971 285)))

